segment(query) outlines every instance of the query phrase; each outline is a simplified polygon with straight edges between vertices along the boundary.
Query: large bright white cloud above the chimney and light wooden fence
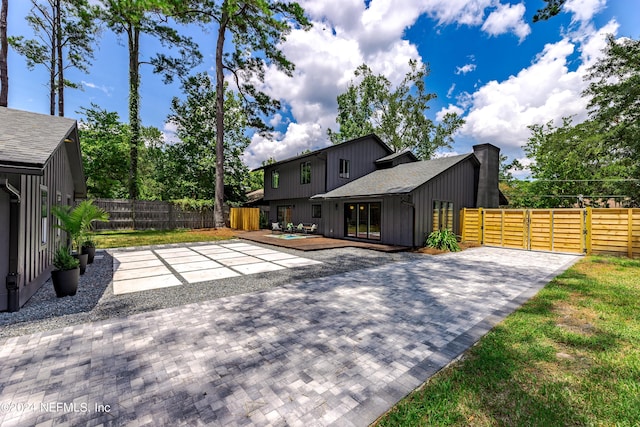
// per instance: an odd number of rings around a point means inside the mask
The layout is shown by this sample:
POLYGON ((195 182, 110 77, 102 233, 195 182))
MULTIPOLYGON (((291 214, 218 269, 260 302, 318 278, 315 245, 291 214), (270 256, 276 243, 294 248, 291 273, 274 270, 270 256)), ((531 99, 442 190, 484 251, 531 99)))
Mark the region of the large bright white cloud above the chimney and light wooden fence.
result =
POLYGON ((564 38, 547 44, 535 62, 502 82, 491 81, 471 96, 471 107, 461 134, 479 143, 490 142, 505 149, 519 148, 530 136, 527 126, 562 117, 586 119, 587 100, 582 97, 588 82, 587 68, 601 56, 605 35, 617 30, 615 21, 590 34, 582 45, 564 38), (567 58, 579 47, 583 60, 569 71, 567 58))

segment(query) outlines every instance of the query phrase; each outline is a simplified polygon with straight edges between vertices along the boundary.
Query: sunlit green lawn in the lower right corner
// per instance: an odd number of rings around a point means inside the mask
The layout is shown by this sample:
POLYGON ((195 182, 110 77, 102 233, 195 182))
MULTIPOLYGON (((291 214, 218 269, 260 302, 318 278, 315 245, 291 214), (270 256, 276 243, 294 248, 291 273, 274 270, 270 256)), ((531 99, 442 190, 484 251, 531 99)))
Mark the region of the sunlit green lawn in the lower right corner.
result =
POLYGON ((582 260, 376 425, 640 425, 640 261, 582 260))

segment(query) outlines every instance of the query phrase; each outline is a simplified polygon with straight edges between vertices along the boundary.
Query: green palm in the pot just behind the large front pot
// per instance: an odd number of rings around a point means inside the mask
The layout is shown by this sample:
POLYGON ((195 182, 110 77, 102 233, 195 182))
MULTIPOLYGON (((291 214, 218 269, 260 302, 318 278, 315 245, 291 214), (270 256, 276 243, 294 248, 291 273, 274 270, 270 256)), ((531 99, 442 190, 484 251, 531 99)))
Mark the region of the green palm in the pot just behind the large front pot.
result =
POLYGON ((60 220, 60 225, 57 225, 57 227, 64 230, 69 239, 71 239, 71 247, 77 251, 77 257, 80 260, 80 274, 84 274, 89 261, 89 254, 83 253, 82 244, 89 240, 88 233, 93 223, 95 221, 108 221, 109 215, 95 206, 91 200, 83 200, 75 208, 71 208, 71 206, 53 206, 51 211, 60 220))

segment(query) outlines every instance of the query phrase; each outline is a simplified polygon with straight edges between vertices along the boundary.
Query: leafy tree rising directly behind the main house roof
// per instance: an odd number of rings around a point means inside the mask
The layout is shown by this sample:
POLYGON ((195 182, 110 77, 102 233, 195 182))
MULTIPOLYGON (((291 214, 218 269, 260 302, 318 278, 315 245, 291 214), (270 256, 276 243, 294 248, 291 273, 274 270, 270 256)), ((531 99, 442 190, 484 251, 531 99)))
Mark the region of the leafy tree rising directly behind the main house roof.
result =
POLYGON ((359 83, 351 82, 345 93, 338 95, 338 132, 327 131, 334 144, 376 133, 394 150, 412 150, 418 157, 429 159, 436 149, 448 147, 453 133, 464 121, 448 113, 442 123, 426 117, 429 102, 436 94, 426 91, 426 65, 409 61, 410 70, 395 89, 383 75, 374 75, 363 64, 355 71, 359 83))

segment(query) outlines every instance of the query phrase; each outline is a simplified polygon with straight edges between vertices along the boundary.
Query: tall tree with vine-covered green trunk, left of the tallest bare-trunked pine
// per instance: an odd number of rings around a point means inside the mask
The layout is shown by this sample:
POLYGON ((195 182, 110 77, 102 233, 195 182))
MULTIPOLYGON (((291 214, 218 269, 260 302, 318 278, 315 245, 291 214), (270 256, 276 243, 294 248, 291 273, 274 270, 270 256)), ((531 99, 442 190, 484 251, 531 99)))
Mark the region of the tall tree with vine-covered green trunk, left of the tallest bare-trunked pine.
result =
POLYGON ((127 37, 129 54, 129 198, 139 197, 138 151, 140 133, 140 65, 150 64, 154 73, 164 76, 165 83, 174 76, 184 76, 202 61, 202 54, 189 37, 182 36, 164 22, 171 16, 167 4, 150 1, 101 0, 100 18, 116 34, 127 37), (161 9, 159 6, 165 6, 161 9), (163 12, 163 13, 161 13, 163 12), (140 35, 157 38, 163 46, 179 49, 180 57, 172 58, 165 54, 156 54, 148 61, 140 59, 140 35))

